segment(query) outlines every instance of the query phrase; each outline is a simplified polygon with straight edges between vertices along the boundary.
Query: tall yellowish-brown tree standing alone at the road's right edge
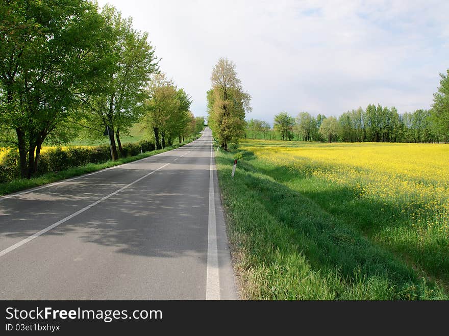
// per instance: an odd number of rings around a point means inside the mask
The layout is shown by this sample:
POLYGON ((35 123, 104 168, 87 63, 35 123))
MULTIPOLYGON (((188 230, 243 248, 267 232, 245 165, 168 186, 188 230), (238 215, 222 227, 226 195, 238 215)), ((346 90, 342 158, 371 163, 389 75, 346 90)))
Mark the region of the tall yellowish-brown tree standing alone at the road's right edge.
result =
POLYGON ((251 96, 243 91, 235 63, 220 58, 211 75, 212 88, 207 92, 208 125, 224 150, 238 143, 245 130, 245 113, 251 112, 251 96))

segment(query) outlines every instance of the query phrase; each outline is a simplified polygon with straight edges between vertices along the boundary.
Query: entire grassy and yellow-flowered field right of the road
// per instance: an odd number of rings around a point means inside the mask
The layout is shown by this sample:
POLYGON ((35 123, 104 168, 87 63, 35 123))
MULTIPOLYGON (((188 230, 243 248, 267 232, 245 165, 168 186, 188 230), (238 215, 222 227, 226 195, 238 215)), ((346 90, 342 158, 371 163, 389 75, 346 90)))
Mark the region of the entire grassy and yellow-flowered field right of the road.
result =
POLYGON ((244 297, 447 299, 448 157, 442 144, 267 140, 217 152, 244 297))

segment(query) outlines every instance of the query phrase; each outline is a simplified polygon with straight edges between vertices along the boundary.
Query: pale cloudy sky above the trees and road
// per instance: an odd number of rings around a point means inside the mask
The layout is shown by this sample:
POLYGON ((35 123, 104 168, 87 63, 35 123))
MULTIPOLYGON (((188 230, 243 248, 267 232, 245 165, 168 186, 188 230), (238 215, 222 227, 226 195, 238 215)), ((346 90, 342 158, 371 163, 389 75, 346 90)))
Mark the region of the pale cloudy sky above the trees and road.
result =
POLYGON ((207 116, 218 59, 252 96, 246 119, 368 104, 429 109, 449 68, 449 1, 97 0, 148 32, 159 65, 207 116))

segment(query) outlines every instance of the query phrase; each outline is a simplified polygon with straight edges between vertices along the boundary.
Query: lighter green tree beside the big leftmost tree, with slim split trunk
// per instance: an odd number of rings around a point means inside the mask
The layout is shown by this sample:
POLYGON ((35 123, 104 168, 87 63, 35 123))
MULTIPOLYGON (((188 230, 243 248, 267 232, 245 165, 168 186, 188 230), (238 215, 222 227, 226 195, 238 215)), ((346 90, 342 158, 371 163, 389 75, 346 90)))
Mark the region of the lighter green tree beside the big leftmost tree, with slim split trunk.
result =
POLYGON ((113 63, 108 80, 102 83, 102 92, 83 97, 84 126, 103 136, 109 126, 113 160, 117 159, 117 141, 120 156, 125 153, 120 134, 127 133, 143 113, 144 86, 152 73, 158 70, 154 48, 148 44, 147 33, 132 28, 131 18, 123 19, 114 7, 106 5, 102 10, 106 23, 113 33, 110 58, 113 63))

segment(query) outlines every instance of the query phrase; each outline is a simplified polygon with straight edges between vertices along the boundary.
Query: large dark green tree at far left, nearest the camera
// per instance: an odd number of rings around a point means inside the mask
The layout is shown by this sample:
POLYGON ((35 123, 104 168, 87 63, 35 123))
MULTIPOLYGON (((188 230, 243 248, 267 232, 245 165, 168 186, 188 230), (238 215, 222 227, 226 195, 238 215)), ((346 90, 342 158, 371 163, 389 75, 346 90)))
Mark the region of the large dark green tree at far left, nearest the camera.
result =
POLYGON ((108 39, 89 1, 0 5, 0 124, 15 133, 22 177, 36 172, 43 142, 76 110, 79 95, 104 80, 108 39))

